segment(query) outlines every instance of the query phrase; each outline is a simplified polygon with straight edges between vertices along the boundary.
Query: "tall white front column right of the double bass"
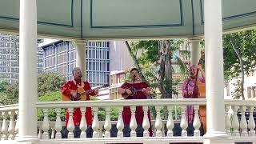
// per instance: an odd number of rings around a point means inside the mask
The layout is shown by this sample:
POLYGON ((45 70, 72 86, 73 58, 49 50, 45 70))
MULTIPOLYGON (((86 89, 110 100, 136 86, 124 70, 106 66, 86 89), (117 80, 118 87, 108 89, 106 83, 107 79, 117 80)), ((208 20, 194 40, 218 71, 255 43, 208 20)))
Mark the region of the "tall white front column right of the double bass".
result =
MULTIPOLYGON (((227 137, 225 132, 222 49, 222 0, 204 1, 206 41, 206 138, 227 137)), ((206 143, 209 143, 206 142, 206 143)), ((214 143, 211 142, 210 143, 214 143)))

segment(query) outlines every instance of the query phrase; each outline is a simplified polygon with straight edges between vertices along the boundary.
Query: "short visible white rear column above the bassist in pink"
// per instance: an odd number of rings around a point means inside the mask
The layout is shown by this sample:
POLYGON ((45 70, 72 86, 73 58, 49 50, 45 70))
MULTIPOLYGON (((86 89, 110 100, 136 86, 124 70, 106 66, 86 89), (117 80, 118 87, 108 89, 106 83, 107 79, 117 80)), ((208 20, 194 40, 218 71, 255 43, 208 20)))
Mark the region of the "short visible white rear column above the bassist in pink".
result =
POLYGON ((200 53, 200 39, 191 39, 190 62, 191 65, 197 66, 201 53, 200 53))

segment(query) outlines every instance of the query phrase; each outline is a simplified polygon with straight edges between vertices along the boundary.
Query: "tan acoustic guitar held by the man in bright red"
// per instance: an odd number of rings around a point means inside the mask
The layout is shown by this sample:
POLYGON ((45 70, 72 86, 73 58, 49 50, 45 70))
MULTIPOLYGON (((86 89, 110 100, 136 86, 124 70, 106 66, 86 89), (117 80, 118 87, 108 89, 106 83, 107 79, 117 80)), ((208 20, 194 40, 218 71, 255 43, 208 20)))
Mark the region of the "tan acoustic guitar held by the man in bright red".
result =
MULTIPOLYGON (((108 87, 109 85, 103 85, 103 86, 99 86, 97 87, 97 89, 101 89, 104 87, 108 87)), ((93 92, 95 89, 93 90, 84 90, 83 86, 78 86, 78 90, 75 90, 78 94, 77 98, 74 98, 70 95, 64 95, 62 94, 62 101, 86 101, 86 94, 90 94, 91 92, 93 92)))

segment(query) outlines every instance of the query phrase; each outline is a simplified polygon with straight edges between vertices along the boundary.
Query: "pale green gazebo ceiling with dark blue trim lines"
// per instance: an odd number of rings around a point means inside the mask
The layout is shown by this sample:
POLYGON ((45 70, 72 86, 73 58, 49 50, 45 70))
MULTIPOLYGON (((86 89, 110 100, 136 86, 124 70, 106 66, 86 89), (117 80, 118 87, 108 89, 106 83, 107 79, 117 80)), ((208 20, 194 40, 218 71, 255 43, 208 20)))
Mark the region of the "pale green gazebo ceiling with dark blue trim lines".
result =
MULTIPOLYGON (((56 38, 191 38, 203 0, 37 0, 38 34, 56 38)), ((0 1, 0 30, 18 32, 19 0, 0 1)), ((256 26, 256 0, 222 0, 225 31, 256 26)))

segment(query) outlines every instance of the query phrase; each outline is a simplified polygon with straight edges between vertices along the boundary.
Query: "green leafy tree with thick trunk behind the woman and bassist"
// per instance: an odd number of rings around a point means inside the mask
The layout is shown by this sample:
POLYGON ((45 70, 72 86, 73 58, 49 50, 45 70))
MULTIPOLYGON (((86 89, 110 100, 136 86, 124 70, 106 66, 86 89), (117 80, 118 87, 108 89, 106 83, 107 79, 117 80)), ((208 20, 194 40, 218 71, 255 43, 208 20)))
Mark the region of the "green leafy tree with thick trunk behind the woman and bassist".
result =
MULTIPOLYGON (((134 65, 142 72, 142 80, 158 87, 162 98, 172 98, 176 91, 172 90, 172 73, 174 68, 174 52, 179 49, 180 40, 134 41, 126 42, 134 65), (139 56, 138 56, 139 53, 139 56)), ((180 70, 187 70, 181 58, 175 57, 180 70)))

